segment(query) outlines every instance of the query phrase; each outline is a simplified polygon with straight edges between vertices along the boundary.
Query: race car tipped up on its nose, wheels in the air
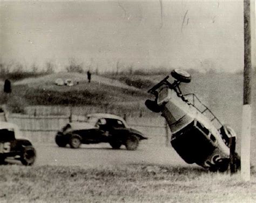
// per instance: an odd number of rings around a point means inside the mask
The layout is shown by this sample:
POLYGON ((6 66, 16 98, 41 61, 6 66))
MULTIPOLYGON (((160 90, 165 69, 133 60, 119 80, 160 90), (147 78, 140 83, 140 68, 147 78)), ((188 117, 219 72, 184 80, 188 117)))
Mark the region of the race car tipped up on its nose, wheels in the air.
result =
MULTIPOLYGON (((145 105, 153 112, 161 112, 170 129, 171 145, 186 163, 196 163, 210 171, 226 171, 230 163, 230 138, 235 132, 223 125, 198 97, 183 94, 179 84, 189 83, 191 75, 174 69, 148 92, 155 96, 145 105), (174 79, 171 83, 169 79, 174 79)), ((240 158, 235 153, 235 165, 240 167, 240 158)))

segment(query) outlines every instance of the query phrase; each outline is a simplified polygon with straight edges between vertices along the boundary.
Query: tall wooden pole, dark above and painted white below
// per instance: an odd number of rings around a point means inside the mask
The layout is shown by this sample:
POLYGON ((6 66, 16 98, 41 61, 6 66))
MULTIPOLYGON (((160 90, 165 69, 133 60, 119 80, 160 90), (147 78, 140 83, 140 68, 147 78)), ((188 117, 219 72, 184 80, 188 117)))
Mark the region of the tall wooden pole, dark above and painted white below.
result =
POLYGON ((251 9, 250 0, 244 0, 244 105, 242 106, 241 132, 241 178, 250 181, 250 151, 251 151, 251 9))

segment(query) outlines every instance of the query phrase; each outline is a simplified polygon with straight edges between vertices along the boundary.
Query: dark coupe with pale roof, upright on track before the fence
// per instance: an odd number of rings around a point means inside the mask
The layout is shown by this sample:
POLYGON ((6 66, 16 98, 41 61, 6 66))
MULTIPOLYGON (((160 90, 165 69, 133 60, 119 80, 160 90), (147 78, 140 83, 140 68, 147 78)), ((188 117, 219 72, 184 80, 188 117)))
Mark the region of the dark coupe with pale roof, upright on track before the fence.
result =
POLYGON ((59 147, 70 145, 78 148, 81 144, 109 143, 118 149, 136 150, 139 141, 147 139, 141 132, 130 128, 126 121, 113 114, 95 113, 87 115, 85 122, 68 123, 57 132, 55 142, 59 147))

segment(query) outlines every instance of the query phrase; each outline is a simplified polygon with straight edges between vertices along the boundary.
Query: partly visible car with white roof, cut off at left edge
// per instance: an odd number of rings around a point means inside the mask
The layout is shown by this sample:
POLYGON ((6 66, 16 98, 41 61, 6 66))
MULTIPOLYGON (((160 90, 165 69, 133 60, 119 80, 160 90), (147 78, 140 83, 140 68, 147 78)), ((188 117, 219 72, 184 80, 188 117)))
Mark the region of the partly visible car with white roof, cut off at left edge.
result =
POLYGON ((22 137, 17 125, 0 122, 0 164, 5 159, 21 161, 23 165, 32 165, 36 160, 36 150, 28 139, 22 137))

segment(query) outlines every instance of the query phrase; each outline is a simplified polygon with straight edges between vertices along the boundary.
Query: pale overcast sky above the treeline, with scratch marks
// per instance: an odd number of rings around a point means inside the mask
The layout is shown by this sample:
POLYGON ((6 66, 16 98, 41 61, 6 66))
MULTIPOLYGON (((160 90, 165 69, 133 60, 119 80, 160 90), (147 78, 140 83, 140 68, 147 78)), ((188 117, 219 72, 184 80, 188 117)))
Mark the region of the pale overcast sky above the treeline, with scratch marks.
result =
POLYGON ((242 2, 1 1, 1 60, 242 70, 242 2))

